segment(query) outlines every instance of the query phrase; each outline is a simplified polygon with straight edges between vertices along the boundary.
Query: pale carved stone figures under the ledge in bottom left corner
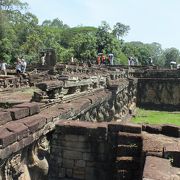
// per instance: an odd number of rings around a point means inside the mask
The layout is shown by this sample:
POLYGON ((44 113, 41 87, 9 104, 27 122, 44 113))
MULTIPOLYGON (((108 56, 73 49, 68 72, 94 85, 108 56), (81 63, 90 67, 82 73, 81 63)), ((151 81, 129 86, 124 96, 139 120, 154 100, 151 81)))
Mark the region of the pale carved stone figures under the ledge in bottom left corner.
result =
POLYGON ((49 142, 40 138, 30 149, 13 154, 0 165, 0 180, 46 180, 48 175, 49 142))

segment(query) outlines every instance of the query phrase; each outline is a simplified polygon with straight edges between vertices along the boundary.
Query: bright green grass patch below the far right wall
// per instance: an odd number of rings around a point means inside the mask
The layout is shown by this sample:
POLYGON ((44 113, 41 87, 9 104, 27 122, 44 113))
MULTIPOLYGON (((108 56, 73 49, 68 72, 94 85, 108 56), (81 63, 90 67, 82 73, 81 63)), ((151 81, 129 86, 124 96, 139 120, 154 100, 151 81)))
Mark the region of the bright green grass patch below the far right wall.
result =
POLYGON ((137 109, 134 123, 173 124, 180 126, 180 112, 152 111, 137 109))

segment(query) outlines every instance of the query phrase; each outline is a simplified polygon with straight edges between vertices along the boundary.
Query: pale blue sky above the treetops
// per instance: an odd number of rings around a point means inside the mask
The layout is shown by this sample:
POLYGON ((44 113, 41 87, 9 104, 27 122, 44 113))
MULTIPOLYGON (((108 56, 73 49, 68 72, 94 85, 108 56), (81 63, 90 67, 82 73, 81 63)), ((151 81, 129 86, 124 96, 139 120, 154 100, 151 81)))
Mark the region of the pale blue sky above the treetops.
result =
POLYGON ((126 42, 158 42, 180 50, 180 0, 23 0, 39 22, 59 18, 71 27, 130 26, 126 42))

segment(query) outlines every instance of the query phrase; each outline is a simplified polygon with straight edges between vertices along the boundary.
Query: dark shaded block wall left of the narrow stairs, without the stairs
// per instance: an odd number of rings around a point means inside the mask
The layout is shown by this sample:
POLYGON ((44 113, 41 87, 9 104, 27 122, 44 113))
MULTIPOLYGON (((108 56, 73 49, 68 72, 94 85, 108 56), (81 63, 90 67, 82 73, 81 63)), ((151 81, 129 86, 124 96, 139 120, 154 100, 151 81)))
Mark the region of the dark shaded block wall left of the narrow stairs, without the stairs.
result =
POLYGON ((111 179, 106 131, 106 126, 93 123, 59 122, 51 144, 49 179, 111 179))

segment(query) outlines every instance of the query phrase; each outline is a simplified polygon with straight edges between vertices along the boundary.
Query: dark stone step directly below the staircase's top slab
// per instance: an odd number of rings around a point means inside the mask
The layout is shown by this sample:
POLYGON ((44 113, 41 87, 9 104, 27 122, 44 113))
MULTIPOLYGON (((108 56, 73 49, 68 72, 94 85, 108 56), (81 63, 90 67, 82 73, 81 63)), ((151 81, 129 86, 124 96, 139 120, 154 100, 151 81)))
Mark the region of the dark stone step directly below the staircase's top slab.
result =
POLYGON ((130 146, 137 145, 138 147, 141 147, 142 136, 140 134, 119 132, 117 137, 117 143, 119 145, 121 144, 130 145, 130 146))

